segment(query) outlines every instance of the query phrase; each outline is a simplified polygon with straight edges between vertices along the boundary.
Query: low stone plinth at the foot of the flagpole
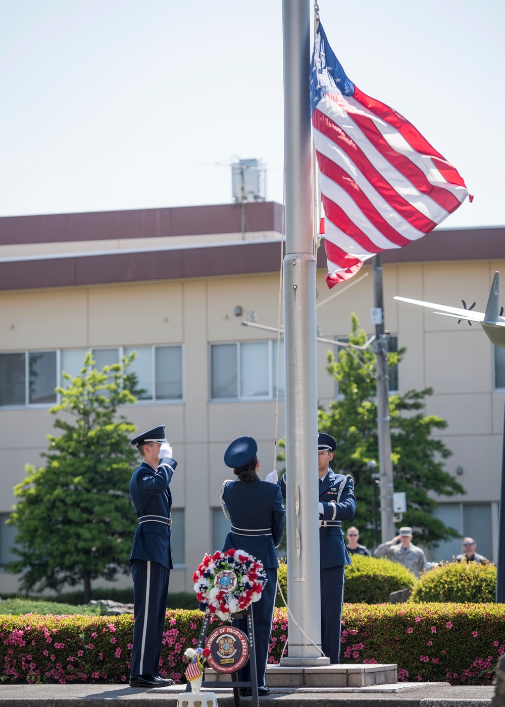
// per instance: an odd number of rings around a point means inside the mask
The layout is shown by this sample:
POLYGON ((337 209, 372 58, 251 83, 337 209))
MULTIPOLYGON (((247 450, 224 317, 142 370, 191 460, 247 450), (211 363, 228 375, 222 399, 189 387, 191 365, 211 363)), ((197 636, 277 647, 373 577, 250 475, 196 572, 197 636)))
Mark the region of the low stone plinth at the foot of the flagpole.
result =
MULTIPOLYGON (((206 680, 231 682, 231 675, 205 669, 206 680)), ((318 667, 284 667, 267 665, 267 687, 297 689, 301 687, 367 687, 371 685, 396 684, 395 664, 366 663, 345 665, 322 665, 318 667)))

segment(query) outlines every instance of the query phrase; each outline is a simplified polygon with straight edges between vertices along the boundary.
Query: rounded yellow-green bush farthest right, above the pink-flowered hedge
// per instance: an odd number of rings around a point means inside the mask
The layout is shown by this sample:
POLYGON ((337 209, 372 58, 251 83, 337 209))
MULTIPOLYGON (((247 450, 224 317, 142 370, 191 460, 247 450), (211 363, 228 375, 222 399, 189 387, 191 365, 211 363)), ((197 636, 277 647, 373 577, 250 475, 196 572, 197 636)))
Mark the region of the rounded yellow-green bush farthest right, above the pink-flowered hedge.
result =
POLYGON ((497 566, 476 562, 441 564, 421 575, 411 602, 494 602, 497 566))

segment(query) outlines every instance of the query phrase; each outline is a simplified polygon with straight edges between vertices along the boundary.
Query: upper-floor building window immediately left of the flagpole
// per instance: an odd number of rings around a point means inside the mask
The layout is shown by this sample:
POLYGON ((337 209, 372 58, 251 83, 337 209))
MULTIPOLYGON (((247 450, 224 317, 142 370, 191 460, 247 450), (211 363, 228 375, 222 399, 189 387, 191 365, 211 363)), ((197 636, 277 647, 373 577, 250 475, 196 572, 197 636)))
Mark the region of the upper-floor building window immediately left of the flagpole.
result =
MULTIPOLYGON (((271 400, 277 395, 277 341, 211 344, 213 400, 271 400)), ((279 347, 279 396, 284 396, 284 341, 279 347)))

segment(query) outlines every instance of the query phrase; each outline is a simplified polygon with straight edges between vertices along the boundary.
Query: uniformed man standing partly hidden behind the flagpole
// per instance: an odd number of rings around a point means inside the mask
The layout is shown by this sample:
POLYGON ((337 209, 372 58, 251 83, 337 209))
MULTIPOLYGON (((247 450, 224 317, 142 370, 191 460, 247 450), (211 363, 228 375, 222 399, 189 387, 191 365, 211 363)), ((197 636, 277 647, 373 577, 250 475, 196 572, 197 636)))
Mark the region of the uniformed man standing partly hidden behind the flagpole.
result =
MULTIPOLYGON (((337 443, 332 436, 319 433, 321 648, 331 663, 340 662, 344 566, 352 564, 342 531, 342 520, 351 520, 356 510, 352 477, 349 474, 335 474, 329 467, 336 448, 337 443)), ((286 498, 284 477, 281 478, 280 486, 282 496, 286 498)))

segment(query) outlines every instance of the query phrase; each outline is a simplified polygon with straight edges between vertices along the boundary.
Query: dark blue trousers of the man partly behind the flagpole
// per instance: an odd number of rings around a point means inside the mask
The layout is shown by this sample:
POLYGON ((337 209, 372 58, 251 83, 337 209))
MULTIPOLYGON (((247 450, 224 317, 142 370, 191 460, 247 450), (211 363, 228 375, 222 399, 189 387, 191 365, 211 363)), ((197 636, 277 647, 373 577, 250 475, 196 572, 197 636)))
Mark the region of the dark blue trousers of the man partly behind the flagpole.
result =
POLYGON ((321 570, 321 648, 331 663, 340 662, 340 629, 344 603, 344 566, 321 570))

